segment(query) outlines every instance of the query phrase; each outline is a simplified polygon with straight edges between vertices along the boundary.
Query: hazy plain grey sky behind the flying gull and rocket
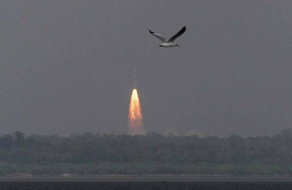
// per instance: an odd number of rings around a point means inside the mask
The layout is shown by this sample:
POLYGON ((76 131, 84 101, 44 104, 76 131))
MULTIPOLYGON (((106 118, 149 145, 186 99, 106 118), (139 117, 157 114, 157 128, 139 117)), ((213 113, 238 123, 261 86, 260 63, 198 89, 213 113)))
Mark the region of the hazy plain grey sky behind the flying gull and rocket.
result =
POLYGON ((291 1, 1 1, 0 134, 292 127, 291 1), (167 38, 163 48, 148 29, 167 38))

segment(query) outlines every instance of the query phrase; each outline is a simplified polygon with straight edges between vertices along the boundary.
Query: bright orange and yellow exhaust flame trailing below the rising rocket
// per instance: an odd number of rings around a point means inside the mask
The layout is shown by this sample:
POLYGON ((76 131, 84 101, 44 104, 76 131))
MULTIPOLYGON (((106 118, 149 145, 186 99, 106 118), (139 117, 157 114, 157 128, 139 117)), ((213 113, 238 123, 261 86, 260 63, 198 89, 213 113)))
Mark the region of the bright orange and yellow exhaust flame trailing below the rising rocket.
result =
POLYGON ((129 107, 129 132, 131 135, 145 135, 143 116, 137 89, 133 89, 129 107))

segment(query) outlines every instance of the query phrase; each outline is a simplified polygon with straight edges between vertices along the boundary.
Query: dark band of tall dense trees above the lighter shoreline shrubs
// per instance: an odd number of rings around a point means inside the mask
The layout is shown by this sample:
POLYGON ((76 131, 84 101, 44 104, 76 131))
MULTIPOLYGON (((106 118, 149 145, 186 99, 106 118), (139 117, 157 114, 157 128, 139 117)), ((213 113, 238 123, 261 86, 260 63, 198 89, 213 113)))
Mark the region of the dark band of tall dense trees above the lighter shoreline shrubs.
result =
MULTIPOLYGON (((291 165, 291 145, 290 128, 271 137, 246 138, 238 135, 226 138, 217 136, 199 138, 197 135, 175 136, 172 133, 167 136, 158 133, 148 133, 146 136, 114 133, 72 134, 68 137, 36 134, 24 136, 23 133, 16 131, 0 137, 0 163, 5 163, 5 166, 16 163, 26 165, 92 163, 291 165)), ((7 167, 5 171, 9 173, 7 167)), ((288 171, 290 172, 292 173, 288 171)))

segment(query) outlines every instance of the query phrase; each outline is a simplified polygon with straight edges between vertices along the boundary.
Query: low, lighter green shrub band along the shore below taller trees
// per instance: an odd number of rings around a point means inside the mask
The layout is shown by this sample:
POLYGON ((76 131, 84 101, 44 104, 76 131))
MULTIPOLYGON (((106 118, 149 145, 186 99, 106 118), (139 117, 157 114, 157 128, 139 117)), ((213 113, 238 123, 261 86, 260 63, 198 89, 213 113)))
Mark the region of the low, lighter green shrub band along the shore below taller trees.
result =
POLYGON ((170 164, 159 162, 135 163, 0 163, 0 176, 2 177, 99 177, 122 176, 125 177, 270 177, 292 176, 292 164, 170 164))

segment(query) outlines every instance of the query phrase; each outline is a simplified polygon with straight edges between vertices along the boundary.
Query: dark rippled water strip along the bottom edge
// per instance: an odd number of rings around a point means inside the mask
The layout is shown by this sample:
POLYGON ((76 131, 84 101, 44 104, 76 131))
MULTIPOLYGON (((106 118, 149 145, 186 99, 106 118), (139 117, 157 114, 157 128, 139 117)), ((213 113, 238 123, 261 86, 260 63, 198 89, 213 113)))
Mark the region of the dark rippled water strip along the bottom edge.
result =
POLYGON ((291 190, 292 182, 250 181, 250 182, 165 182, 165 181, 0 181, 1 190, 291 190))

